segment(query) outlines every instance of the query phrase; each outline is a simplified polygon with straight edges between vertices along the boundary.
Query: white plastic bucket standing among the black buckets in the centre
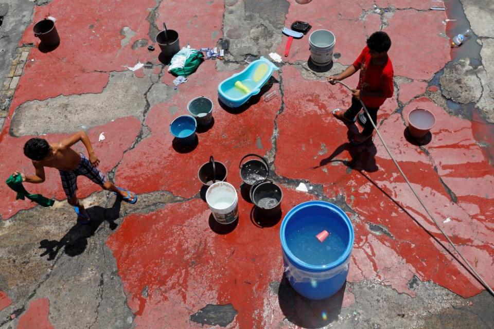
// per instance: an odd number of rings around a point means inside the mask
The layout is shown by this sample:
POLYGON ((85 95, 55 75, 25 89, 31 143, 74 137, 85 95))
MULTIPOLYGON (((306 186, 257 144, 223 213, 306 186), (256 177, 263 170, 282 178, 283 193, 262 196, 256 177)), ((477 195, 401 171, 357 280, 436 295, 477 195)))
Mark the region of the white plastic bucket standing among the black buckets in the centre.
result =
POLYGON ((235 187, 218 181, 206 191, 206 202, 220 224, 230 224, 238 218, 238 195, 235 187))

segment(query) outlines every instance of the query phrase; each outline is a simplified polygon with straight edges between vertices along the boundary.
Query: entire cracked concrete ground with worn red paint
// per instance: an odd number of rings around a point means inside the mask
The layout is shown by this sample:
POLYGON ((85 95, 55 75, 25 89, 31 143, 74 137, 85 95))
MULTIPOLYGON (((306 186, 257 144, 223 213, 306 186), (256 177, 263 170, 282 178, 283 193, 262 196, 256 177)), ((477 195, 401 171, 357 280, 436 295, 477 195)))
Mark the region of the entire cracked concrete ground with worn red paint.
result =
MULTIPOLYGON (((56 17, 62 43, 43 53, 32 24, 25 29, 20 44, 35 47, 0 133, 2 177, 31 172, 21 151, 31 136, 55 141, 82 128, 101 169, 139 200, 121 204, 81 178, 78 195, 93 218, 81 227, 56 171, 47 171, 44 184, 27 186, 56 198, 52 208, 15 200, 0 186, 0 328, 492 328, 494 299, 445 250, 444 237, 379 139, 351 148, 346 127, 330 116, 349 97, 326 77, 352 63, 366 36, 388 32, 396 92, 379 112, 379 129, 445 231, 494 284, 494 34, 486 28, 494 7, 488 0, 446 0, 446 11, 429 9, 441 4, 53 0, 26 7, 23 17, 32 22, 56 17), (280 29, 295 20, 336 34, 331 70, 311 69, 304 36, 268 87, 277 92, 273 100, 256 97, 236 111, 221 106, 218 83, 245 67, 246 56, 283 53, 287 37, 280 29), (230 49, 174 89, 157 51, 147 50, 163 22, 179 31, 182 46, 228 39, 230 49), (469 22, 475 38, 451 50, 448 37, 469 22), (122 67, 137 61, 152 67, 122 67), (213 100, 215 122, 183 153, 173 148, 168 123, 186 114, 197 96, 213 100), (416 107, 437 118, 422 143, 405 129, 416 107), (106 138, 98 142, 100 133, 106 138), (251 220, 252 204, 241 198, 235 225, 218 226, 210 216, 198 168, 213 154, 239 188, 238 163, 248 153, 269 159, 271 177, 283 188, 283 213, 323 199, 351 218, 350 272, 336 296, 309 301, 290 288, 278 240, 281 218, 251 220), (295 190, 299 182, 308 193, 295 190)), ((11 41, 14 50, 17 41, 11 41)), ((356 84, 356 77, 348 82, 356 84)))

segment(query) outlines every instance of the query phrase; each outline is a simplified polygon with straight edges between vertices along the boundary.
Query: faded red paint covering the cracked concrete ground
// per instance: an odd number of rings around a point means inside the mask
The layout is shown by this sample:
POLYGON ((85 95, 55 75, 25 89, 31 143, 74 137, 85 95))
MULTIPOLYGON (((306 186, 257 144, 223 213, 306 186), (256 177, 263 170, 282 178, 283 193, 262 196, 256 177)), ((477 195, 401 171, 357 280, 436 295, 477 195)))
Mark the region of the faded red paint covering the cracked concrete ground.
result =
MULTIPOLYGON (((326 1, 324 15, 321 15, 321 2, 297 5, 291 0, 290 3, 285 25, 302 20, 313 26, 312 31, 320 28, 333 31, 337 36, 334 52, 341 53, 338 62, 344 65, 355 60, 365 44, 366 35, 378 30, 381 24, 376 13, 367 14, 360 20, 362 10, 373 8, 374 1, 371 0, 345 4, 326 1)), ((390 6, 390 3, 388 0, 376 1, 380 7, 390 6)), ((491 125, 477 117, 472 122, 450 116, 430 100, 419 97, 427 87, 425 81, 450 60, 448 40, 439 35, 445 32, 442 21, 446 16, 441 11, 416 10, 430 6, 425 0, 393 1, 392 5, 403 10, 386 14, 390 26, 384 30, 393 40, 390 56, 395 74, 413 82, 401 83, 399 96, 384 103, 379 111, 379 129, 439 224, 460 246, 469 262, 477 263, 477 270, 492 285, 494 276, 489 265, 494 254, 491 221, 494 169, 489 158, 492 159, 494 154, 492 148, 479 146, 480 141, 494 144, 491 125), (419 38, 411 37, 410 31, 419 38), (410 102, 401 114, 396 112, 397 99, 402 103, 410 102), (415 107, 430 109, 437 119, 430 143, 422 148, 411 144, 404 136, 407 115, 415 107), (442 182, 454 193, 456 202, 442 182)), ((131 48, 134 41, 148 38, 146 16, 148 8, 154 6, 153 1, 138 4, 90 1, 81 5, 60 0, 36 7, 34 21, 48 14, 57 17, 62 44, 48 54, 37 48, 31 50, 29 59, 34 61, 26 64, 10 115, 17 105, 27 100, 98 93, 108 82, 108 72, 124 69, 121 65, 134 65, 137 60, 156 63, 157 51, 131 48), (90 29, 90 25, 94 27, 90 29), (120 35, 120 29, 124 26, 136 34, 122 48, 120 41, 124 36, 120 35)), ((166 21, 168 28, 179 30, 182 46, 187 42, 192 47, 211 46, 221 38, 221 1, 162 2, 157 13, 156 24, 159 26, 166 21)), ((286 40, 284 36, 276 48, 278 53, 283 52, 286 40)), ((34 41, 29 27, 23 42, 34 41)), ((293 42, 286 60, 293 63, 308 57, 306 35, 293 42)), ((446 243, 444 237, 396 173, 379 139, 375 137, 374 144, 368 147, 348 147, 346 127, 331 116, 333 108, 349 105, 347 90, 342 86, 330 86, 325 81, 305 80, 296 67, 284 66, 281 76, 283 113, 276 117, 281 105, 277 97, 269 103, 261 99, 245 111, 233 114, 220 107, 216 90, 218 83, 233 73, 216 71, 214 61, 205 61, 187 83, 179 86, 178 94, 150 109, 145 122, 151 130, 150 136, 125 154, 123 152, 130 147, 140 127, 135 118, 119 119, 90 130, 103 170, 110 170, 121 160, 116 172, 119 185, 137 193, 167 190, 190 198, 201 188, 197 170, 212 154, 225 163, 227 180, 238 187, 240 158, 248 153, 265 155, 272 149, 276 118, 276 174, 320 184, 325 195, 343 195, 355 211, 355 214, 349 214, 356 232, 349 282, 372 280, 414 296, 408 282, 415 275, 463 297, 482 290, 440 246, 439 243, 446 243), (187 102, 197 96, 213 100, 215 124, 209 131, 198 134, 199 144, 195 150, 179 153, 172 147, 168 124, 174 117, 187 114, 187 102), (98 143, 96 140, 101 131, 105 132, 106 139, 98 143), (352 159, 355 170, 345 165, 352 159), (381 225, 389 235, 372 231, 371 224, 381 225)), ((143 70, 135 74, 140 77, 143 70)), ((162 78, 168 85, 172 80, 173 77, 166 73, 162 78)), ((355 86, 357 76, 346 82, 355 86)), ((275 84, 273 88, 279 89, 279 85, 275 84)), ((29 161, 20 151, 29 137, 9 136, 9 122, 7 119, 0 135, 0 158, 9 159, 0 163, 0 173, 5 178, 16 169, 31 170, 29 161)), ((47 136, 49 140, 61 137, 47 136)), ((45 184, 27 187, 32 192, 59 199, 64 197, 56 171, 49 171, 45 184)), ((4 219, 33 206, 27 201, 15 201, 15 195, 6 189, 0 185, 0 192, 4 192, 0 213, 4 219)), ((81 179, 80 196, 98 189, 92 182, 81 179)), ((314 198, 286 187, 283 191, 284 213, 296 204, 314 198)), ((107 244, 117 260, 137 326, 161 323, 199 327, 189 321, 189 316, 209 303, 232 303, 239 314, 231 327, 242 328, 286 327, 288 324, 282 321, 287 313, 298 312, 317 318, 326 311, 317 306, 309 309, 307 303, 300 300, 288 310, 280 305, 276 292, 270 291, 269 286, 279 282, 283 275, 279 223, 262 229, 257 227, 249 218, 251 208, 251 204, 240 199, 239 224, 225 235, 211 229, 210 212, 198 198, 125 218, 107 244), (142 295, 145 287, 148 287, 147 297, 142 295)), ((348 307, 354 301, 355 296, 346 289, 342 306, 348 307)), ((33 302, 23 317, 28 319, 36 307, 46 319, 47 299, 33 302)))

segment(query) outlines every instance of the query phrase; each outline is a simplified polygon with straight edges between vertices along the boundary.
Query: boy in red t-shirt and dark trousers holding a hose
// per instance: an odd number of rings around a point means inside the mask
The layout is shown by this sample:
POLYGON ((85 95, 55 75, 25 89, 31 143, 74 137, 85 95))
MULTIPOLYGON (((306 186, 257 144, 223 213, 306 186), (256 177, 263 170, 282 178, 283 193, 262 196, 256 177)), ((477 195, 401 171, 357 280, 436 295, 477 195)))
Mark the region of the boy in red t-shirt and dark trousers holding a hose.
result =
MULTIPOLYGON (((360 69, 360 79, 357 89, 352 89, 351 106, 344 113, 339 108, 333 111, 333 116, 345 124, 354 122, 355 116, 362 109, 359 99, 367 107, 372 121, 377 124, 377 110, 386 98, 393 96, 393 64, 387 51, 391 47, 391 39, 386 32, 378 31, 372 33, 367 39, 367 46, 354 62, 345 71, 337 76, 328 78, 329 83, 335 84, 353 75, 360 69)), ((350 142, 361 144, 372 137, 374 127, 367 119, 362 133, 356 135, 350 142)))

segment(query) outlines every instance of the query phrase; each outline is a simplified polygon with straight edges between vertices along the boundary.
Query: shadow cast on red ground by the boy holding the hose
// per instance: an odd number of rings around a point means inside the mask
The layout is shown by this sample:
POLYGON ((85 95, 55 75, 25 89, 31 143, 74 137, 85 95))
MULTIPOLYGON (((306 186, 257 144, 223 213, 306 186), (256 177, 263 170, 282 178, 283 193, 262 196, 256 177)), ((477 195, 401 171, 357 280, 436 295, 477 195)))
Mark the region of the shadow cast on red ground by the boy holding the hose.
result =
MULTIPOLYGON (((355 126, 355 123, 352 125, 355 126)), ((351 139, 353 136, 355 136, 355 129, 357 129, 357 126, 351 127, 350 125, 348 127, 348 133, 347 133, 348 139, 351 139)), ((324 167, 331 162, 342 162, 345 166, 347 166, 350 169, 372 173, 379 169, 379 167, 376 164, 376 153, 377 153, 376 145, 374 144, 372 138, 369 138, 367 141, 357 146, 351 145, 349 142, 346 142, 341 144, 327 158, 322 159, 319 162, 319 166, 315 166, 312 169, 324 167), (337 157, 340 153, 342 153, 345 150, 348 151, 348 153, 350 154, 351 157, 350 161, 338 160, 338 159, 333 160, 335 157, 337 157)))

